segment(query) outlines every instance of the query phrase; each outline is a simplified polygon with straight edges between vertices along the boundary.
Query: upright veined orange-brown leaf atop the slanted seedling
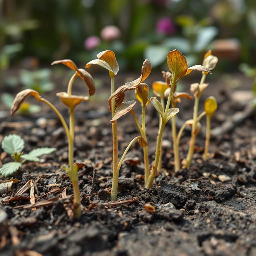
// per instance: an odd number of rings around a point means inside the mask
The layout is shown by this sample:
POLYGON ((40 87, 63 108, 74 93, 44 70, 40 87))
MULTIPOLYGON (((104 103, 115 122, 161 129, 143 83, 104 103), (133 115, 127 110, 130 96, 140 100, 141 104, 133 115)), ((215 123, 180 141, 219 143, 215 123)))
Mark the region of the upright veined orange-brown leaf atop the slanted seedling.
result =
POLYGON ((172 81, 176 84, 188 70, 186 58, 177 49, 168 52, 167 64, 172 72, 172 81))

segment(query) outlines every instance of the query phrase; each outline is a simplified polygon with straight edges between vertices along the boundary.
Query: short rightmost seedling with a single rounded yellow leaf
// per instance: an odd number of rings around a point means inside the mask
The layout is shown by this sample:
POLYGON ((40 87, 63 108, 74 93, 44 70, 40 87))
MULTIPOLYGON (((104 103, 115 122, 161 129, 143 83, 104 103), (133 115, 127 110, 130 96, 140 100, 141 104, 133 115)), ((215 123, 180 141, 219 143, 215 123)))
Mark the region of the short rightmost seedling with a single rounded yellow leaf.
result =
POLYGON ((209 143, 210 143, 210 121, 213 116, 213 114, 217 110, 217 101, 216 98, 210 96, 206 99, 204 102, 204 111, 206 113, 206 139, 205 139, 205 146, 204 146, 204 154, 203 154, 203 159, 207 160, 208 155, 209 155, 209 143))

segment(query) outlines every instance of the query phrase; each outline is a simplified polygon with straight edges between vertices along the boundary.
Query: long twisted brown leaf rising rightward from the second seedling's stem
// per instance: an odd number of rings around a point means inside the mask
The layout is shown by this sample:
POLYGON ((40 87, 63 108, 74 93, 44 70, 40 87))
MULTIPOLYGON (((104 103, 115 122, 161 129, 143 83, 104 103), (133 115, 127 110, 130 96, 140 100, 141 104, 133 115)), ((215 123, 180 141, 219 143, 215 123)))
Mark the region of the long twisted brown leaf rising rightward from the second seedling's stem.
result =
POLYGON ((109 110, 111 111, 111 99, 115 98, 115 104, 118 106, 124 100, 124 92, 127 90, 136 89, 141 82, 143 82, 151 72, 151 63, 148 59, 144 60, 141 68, 141 76, 132 82, 128 82, 123 86, 120 86, 108 99, 109 110))

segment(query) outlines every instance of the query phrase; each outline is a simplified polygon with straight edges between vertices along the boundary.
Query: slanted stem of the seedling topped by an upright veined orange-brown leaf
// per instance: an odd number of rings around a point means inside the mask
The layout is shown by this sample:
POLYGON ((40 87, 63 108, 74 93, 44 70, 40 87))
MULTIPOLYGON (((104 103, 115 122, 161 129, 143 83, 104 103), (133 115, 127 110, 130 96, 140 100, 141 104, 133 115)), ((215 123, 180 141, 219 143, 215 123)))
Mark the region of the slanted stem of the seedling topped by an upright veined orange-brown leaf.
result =
POLYGON ((162 142, 164 126, 166 125, 165 120, 166 120, 167 115, 168 115, 168 109, 169 109, 169 106, 170 106, 170 102, 171 102, 172 94, 173 94, 173 91, 174 91, 174 87, 175 87, 175 84, 172 84, 170 94, 168 96, 168 100, 167 100, 167 103, 166 103, 165 111, 164 111, 164 118, 161 122, 161 128, 160 128, 160 131, 159 131, 158 140, 157 140, 157 144, 156 144, 155 163, 152 166, 152 171, 151 171, 151 173, 148 177, 148 181, 147 181, 147 184, 146 184, 145 188, 151 188, 151 186, 153 184, 153 181, 154 181, 154 178, 156 176, 157 166, 158 166, 158 162, 159 162, 159 158, 160 158, 160 152, 161 152, 160 146, 161 146, 161 142, 162 142))

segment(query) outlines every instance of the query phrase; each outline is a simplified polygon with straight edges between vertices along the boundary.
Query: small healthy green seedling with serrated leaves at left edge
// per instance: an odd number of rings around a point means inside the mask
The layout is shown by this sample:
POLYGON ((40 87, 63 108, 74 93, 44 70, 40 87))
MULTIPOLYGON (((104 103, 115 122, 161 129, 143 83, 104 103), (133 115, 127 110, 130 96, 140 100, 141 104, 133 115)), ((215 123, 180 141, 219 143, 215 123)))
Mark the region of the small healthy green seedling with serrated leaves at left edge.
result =
POLYGON ((28 154, 24 154, 23 149, 25 147, 25 141, 16 134, 10 134, 5 136, 2 140, 2 149, 7 154, 10 154, 14 159, 14 162, 4 164, 0 168, 0 174, 4 177, 10 176, 18 171, 18 169, 26 161, 38 162, 39 156, 45 154, 51 154, 56 148, 36 148, 30 151, 28 154))

